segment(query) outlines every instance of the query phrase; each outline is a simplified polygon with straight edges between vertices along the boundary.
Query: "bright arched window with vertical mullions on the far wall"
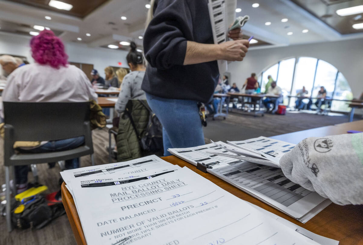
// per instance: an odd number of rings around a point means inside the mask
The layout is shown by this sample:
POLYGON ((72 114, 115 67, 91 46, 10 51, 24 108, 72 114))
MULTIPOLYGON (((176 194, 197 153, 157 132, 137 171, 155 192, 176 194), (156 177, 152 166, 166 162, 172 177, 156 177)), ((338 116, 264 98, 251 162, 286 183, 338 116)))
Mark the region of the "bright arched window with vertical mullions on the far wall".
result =
MULTIPOLYGON (((294 105, 295 99, 286 95, 296 95, 302 86, 309 91, 307 96, 317 97, 321 86, 327 91, 327 97, 333 99, 351 100, 353 94, 344 75, 337 68, 326 61, 313 57, 287 58, 270 66, 258 77, 261 92, 265 92, 268 75, 272 76, 281 87, 285 97, 284 103, 294 105)), ((332 111, 349 111, 347 102, 333 101, 332 111)))

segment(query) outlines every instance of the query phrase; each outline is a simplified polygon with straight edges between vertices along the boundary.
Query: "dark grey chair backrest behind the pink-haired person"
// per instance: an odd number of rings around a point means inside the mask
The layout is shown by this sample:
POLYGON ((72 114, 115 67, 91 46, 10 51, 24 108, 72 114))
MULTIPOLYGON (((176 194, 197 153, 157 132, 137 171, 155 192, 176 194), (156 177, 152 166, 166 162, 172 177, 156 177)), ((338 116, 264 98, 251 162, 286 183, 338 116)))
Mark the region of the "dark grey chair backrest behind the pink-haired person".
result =
POLYGON ((5 127, 14 141, 46 141, 85 135, 90 102, 3 102, 5 127))

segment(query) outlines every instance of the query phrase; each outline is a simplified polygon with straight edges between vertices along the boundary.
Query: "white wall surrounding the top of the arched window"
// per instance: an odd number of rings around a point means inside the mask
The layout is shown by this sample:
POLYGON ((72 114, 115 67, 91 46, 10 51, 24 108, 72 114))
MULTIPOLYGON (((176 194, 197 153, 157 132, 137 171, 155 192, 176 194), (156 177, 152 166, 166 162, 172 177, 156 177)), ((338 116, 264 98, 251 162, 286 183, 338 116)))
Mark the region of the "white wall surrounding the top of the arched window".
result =
POLYGON ((250 50, 242 62, 229 64, 231 82, 241 87, 251 73, 261 74, 279 60, 294 56, 315 57, 329 62, 343 73, 354 97, 363 92, 363 39, 250 50))

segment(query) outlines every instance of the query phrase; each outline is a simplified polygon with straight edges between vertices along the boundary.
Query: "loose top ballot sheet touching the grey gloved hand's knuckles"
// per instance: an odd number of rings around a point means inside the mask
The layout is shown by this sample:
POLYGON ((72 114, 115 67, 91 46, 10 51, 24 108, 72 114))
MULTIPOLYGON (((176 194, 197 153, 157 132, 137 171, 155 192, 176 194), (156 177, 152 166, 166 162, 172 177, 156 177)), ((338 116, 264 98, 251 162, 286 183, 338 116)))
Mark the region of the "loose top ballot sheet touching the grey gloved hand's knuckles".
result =
POLYGON ((227 141, 227 143, 244 150, 258 152, 278 165, 280 165, 281 157, 296 146, 295 144, 264 136, 241 141, 227 141))

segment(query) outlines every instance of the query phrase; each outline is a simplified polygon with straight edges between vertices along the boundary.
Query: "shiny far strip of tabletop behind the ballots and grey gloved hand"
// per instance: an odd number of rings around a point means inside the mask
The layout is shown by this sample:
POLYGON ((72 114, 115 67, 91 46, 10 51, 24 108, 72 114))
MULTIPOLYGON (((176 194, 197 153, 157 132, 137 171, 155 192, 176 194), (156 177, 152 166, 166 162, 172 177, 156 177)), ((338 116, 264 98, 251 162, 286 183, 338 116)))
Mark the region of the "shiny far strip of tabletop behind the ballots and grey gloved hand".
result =
POLYGON ((308 130, 297 131, 289 134, 281 134, 270 138, 297 144, 307 137, 325 137, 329 135, 347 134, 348 130, 357 130, 363 132, 363 120, 336 124, 334 126, 325 126, 308 130))

